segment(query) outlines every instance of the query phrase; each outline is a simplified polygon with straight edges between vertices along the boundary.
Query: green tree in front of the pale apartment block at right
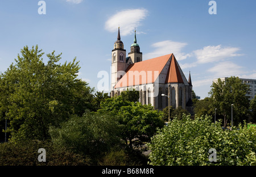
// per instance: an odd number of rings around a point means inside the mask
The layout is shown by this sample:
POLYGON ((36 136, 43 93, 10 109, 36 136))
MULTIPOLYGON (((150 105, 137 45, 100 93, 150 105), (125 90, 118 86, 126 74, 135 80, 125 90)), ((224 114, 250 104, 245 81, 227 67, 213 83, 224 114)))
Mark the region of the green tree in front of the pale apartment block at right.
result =
POLYGON ((242 83, 238 77, 227 78, 226 81, 213 82, 209 94, 213 99, 213 107, 224 117, 224 127, 231 120, 231 104, 233 106, 233 121, 238 124, 247 115, 249 100, 245 96, 249 86, 242 83))

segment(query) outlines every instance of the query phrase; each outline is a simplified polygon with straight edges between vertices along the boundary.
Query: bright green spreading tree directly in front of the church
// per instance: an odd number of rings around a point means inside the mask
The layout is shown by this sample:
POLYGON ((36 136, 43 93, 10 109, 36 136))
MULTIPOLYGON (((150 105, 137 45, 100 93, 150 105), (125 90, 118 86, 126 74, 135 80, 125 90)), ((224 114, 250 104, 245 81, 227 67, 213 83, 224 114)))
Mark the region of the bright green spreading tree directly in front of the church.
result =
POLYGON ((126 144, 148 142, 156 129, 163 127, 162 112, 150 105, 129 102, 122 95, 108 98, 101 103, 100 113, 110 113, 117 117, 121 125, 121 136, 126 144), (136 139, 136 141, 134 141, 136 139))

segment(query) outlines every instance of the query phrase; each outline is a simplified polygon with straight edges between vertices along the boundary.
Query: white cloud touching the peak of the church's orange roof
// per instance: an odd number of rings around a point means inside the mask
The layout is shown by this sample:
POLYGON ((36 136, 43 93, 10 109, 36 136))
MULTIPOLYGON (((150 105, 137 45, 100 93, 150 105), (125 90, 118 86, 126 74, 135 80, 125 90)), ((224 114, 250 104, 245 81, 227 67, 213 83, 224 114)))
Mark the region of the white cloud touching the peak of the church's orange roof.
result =
POLYGON ((188 44, 171 40, 160 41, 158 43, 152 44, 151 47, 154 47, 156 49, 153 52, 144 54, 143 58, 147 60, 150 58, 163 56, 165 54, 174 53, 176 60, 184 60, 185 58, 191 56, 191 54, 189 53, 185 54, 181 52, 181 49, 184 48, 186 45, 188 44))

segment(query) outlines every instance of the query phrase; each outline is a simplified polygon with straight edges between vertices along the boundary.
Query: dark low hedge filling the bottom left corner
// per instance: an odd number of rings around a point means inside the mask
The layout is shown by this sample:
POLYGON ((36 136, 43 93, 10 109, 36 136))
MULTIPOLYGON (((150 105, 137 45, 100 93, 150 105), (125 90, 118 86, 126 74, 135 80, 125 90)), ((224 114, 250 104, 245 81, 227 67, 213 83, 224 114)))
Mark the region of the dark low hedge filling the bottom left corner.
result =
POLYGON ((0 144, 0 166, 64 166, 90 165, 88 157, 72 153, 65 147, 47 141, 6 142, 0 144), (46 162, 39 162, 38 149, 46 149, 46 162))

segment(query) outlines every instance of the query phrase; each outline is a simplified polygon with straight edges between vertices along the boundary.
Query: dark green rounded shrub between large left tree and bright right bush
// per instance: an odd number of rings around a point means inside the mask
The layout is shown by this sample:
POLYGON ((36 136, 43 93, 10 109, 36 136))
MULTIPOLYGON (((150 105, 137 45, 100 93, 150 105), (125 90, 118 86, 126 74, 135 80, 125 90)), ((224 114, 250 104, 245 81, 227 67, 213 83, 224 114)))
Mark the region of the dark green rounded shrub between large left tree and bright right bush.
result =
POLYGON ((72 116, 61 123, 60 128, 50 127, 49 133, 54 145, 93 158, 120 142, 119 124, 115 117, 106 113, 88 112, 81 117, 72 116))

